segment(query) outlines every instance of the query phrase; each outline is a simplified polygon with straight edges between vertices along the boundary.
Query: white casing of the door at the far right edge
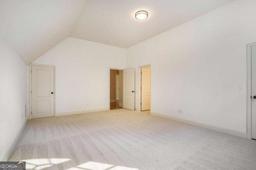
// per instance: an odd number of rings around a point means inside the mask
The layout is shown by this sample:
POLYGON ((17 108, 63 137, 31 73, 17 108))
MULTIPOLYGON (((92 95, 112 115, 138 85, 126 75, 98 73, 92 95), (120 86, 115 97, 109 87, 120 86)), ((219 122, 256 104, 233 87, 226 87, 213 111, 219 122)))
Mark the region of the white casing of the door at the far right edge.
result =
POLYGON ((252 46, 247 44, 247 139, 252 139, 252 46))

